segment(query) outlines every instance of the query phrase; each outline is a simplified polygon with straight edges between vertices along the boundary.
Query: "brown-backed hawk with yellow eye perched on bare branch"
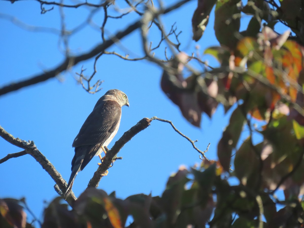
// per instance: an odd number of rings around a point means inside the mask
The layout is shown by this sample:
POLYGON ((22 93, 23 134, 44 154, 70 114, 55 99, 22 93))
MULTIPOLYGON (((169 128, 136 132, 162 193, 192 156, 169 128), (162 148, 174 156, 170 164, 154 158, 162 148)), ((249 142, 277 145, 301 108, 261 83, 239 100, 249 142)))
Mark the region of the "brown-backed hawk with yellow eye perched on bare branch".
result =
POLYGON ((72 144, 72 147, 75 147, 75 155, 64 197, 71 192, 78 172, 82 171, 95 155, 101 158, 100 154, 105 152, 104 147, 109 145, 118 131, 121 108, 124 105, 129 107, 128 97, 118 89, 107 91, 97 101, 72 144))

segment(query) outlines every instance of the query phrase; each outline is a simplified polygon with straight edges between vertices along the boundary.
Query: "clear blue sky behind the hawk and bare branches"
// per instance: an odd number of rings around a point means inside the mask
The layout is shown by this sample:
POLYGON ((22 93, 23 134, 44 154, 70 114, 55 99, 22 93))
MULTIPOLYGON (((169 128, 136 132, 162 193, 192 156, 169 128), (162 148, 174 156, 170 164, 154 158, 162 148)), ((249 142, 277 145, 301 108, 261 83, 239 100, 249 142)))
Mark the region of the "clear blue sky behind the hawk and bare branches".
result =
MULTIPOLYGON (((172 2, 174 1, 167 1, 165 5, 172 2)), ((199 45, 198 52, 202 55, 206 47, 218 45, 218 42, 213 30, 213 14, 210 15, 203 38, 198 43, 191 40, 191 18, 196 5, 196 1, 191 1, 162 19, 167 30, 174 22, 178 30, 182 30, 181 50, 191 54, 195 45, 199 45)), ((45 7, 48 9, 48 6, 45 7)), ((85 7, 77 10, 64 9, 67 28, 71 29, 81 23, 88 12, 85 7)), ((41 73, 64 59, 58 49, 57 35, 26 31, 4 19, 7 18, 4 14, 14 16, 29 25, 60 29, 57 7, 42 15, 38 2, 17 1, 11 4, 8 1, 0 1, 0 87, 41 73)), ((96 24, 102 23, 102 15, 102 11, 96 14, 96 24)), ((106 34, 110 35, 123 29, 136 18, 132 13, 124 20, 109 21, 106 34)), ((247 19, 241 23, 248 22, 247 19)), ((149 36, 156 44, 159 38, 157 30, 152 30, 149 36)), ((100 41, 100 33, 88 26, 71 38, 70 47, 73 53, 80 54, 90 50, 100 41)), ((161 48, 159 55, 164 51, 164 47, 161 48)), ((121 44, 109 48, 109 51, 112 50, 123 55, 130 54, 130 57, 142 56, 139 32, 125 37, 121 44)), ((212 58, 208 59, 214 62, 212 58)), ((206 157, 217 159, 217 142, 229 121, 231 111, 224 115, 223 107, 219 106, 212 120, 203 114, 201 128, 197 128, 183 118, 178 107, 161 91, 162 71, 155 64, 145 60, 125 61, 116 56, 102 56, 97 63, 95 80, 104 80, 103 89, 94 95, 88 94, 74 79, 75 72, 80 72, 82 65, 87 68, 85 73, 92 73, 93 60, 81 62, 57 78, 0 97, 0 125, 15 137, 33 140, 65 180, 68 180, 71 174, 71 160, 74 156, 74 148, 71 145, 75 136, 98 98, 113 88, 127 94, 130 107, 122 108, 120 128, 109 148, 140 119, 157 116, 171 120, 182 133, 192 140, 198 140, 196 146, 200 150, 205 150, 208 143, 211 143, 206 157)), ((244 137, 242 136, 243 139, 244 137)), ((1 158, 21 150, 0 138, 1 158)), ((123 160, 114 163, 109 174, 102 178, 99 188, 108 194, 116 191, 116 196, 122 199, 137 193, 159 195, 164 191, 169 175, 177 171, 180 165, 190 167, 200 163, 199 154, 192 145, 169 124, 158 121, 153 121, 151 126, 137 134, 118 155, 122 156, 123 160)), ((88 181, 98 168, 98 162, 98 157, 94 157, 77 175, 73 185, 76 196, 87 187, 88 181)), ((57 193, 53 188, 54 181, 40 164, 30 155, 25 155, 0 164, 0 173, 0 198, 25 197, 29 207, 42 220, 43 207, 47 206, 57 193)))

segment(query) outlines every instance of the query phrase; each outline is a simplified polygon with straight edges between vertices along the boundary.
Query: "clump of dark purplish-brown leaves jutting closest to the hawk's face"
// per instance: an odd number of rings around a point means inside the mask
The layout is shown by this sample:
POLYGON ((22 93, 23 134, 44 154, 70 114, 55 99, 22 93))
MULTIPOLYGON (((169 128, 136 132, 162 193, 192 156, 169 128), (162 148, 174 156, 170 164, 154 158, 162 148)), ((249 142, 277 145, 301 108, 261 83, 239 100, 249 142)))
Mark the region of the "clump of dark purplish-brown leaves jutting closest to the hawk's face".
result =
POLYGON ((203 79, 198 75, 184 79, 182 77, 184 60, 185 54, 179 54, 170 62, 175 74, 164 71, 161 78, 161 88, 168 98, 178 105, 188 122, 199 127, 202 112, 211 116, 217 107, 217 102, 213 97, 217 96, 218 85, 216 81, 203 79))

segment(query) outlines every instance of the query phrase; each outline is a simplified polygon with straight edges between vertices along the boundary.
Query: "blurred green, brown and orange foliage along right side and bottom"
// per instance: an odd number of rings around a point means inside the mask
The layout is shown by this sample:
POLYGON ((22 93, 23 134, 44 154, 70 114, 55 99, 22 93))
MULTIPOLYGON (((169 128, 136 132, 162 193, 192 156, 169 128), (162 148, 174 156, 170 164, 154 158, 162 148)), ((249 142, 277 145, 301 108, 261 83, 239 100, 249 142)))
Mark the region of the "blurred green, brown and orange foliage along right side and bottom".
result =
MULTIPOLYGON (((41 9, 45 4, 56 6, 38 1, 41 9)), ((70 202, 72 210, 58 197, 45 209, 41 226, 116 228, 124 227, 128 216, 132 216, 129 227, 205 227, 206 224, 209 227, 302 227, 303 2, 251 0, 243 5, 238 0, 198 0, 192 17, 193 40, 204 39, 214 9, 214 30, 220 45, 204 50, 204 54, 218 61, 214 67, 194 54, 181 52, 173 26, 168 34, 163 31, 159 17, 175 8, 182 9, 186 1, 167 9, 155 9, 142 1, 126 2, 134 4, 132 11, 140 16, 133 27, 124 30, 125 33, 141 31, 145 55, 136 60, 147 59, 162 67, 161 89, 178 105, 189 123, 199 127, 202 113, 212 118, 218 105, 223 105, 226 111, 234 109, 217 145, 218 161, 209 161, 207 157, 202 158, 199 167, 180 167, 169 177, 162 195, 156 197, 139 194, 122 200, 116 198, 115 192, 107 195, 103 190, 87 188, 77 200, 70 202), (143 4, 147 9, 140 12, 138 8, 143 4), (244 15, 251 19, 247 29, 240 31, 244 15), (284 24, 290 30, 279 34, 275 31, 276 24, 284 24), (162 34, 160 43, 167 41, 171 57, 166 52, 164 58, 153 54, 155 49, 149 47, 147 36, 152 25, 162 34), (172 36, 178 43, 170 40, 172 36), (204 71, 190 65, 192 62, 194 66, 203 66, 204 71), (256 128, 256 122, 263 126, 256 128), (239 142, 244 128, 249 132, 248 137, 239 142), (254 133, 261 134, 264 140, 254 143, 254 133), (238 185, 231 184, 232 177, 239 180, 238 185), (275 197, 278 189, 283 190, 285 200, 275 197)), ((111 5, 107 1, 94 7, 107 9, 111 5)), ((110 42, 103 36, 102 39, 104 45, 110 42)), ((95 63, 102 54, 119 56, 105 49, 99 47, 91 53, 90 57, 96 57, 95 63)), ((127 56, 119 57, 130 60, 127 56)), ((81 61, 79 56, 67 57, 72 58, 81 61)), ((59 67, 62 71, 66 69, 59 67)), ((47 77, 56 74, 52 71, 47 77)), ((81 71, 79 80, 90 82, 94 74, 86 78, 81 71)), ((94 86, 82 85, 88 92, 92 89, 96 92, 99 84, 97 81, 94 86)), ((0 88, 0 92, 16 90, 7 89, 0 88)), ((25 222, 22 205, 23 200, 0 201, 1 227, 32 227, 25 222)))

